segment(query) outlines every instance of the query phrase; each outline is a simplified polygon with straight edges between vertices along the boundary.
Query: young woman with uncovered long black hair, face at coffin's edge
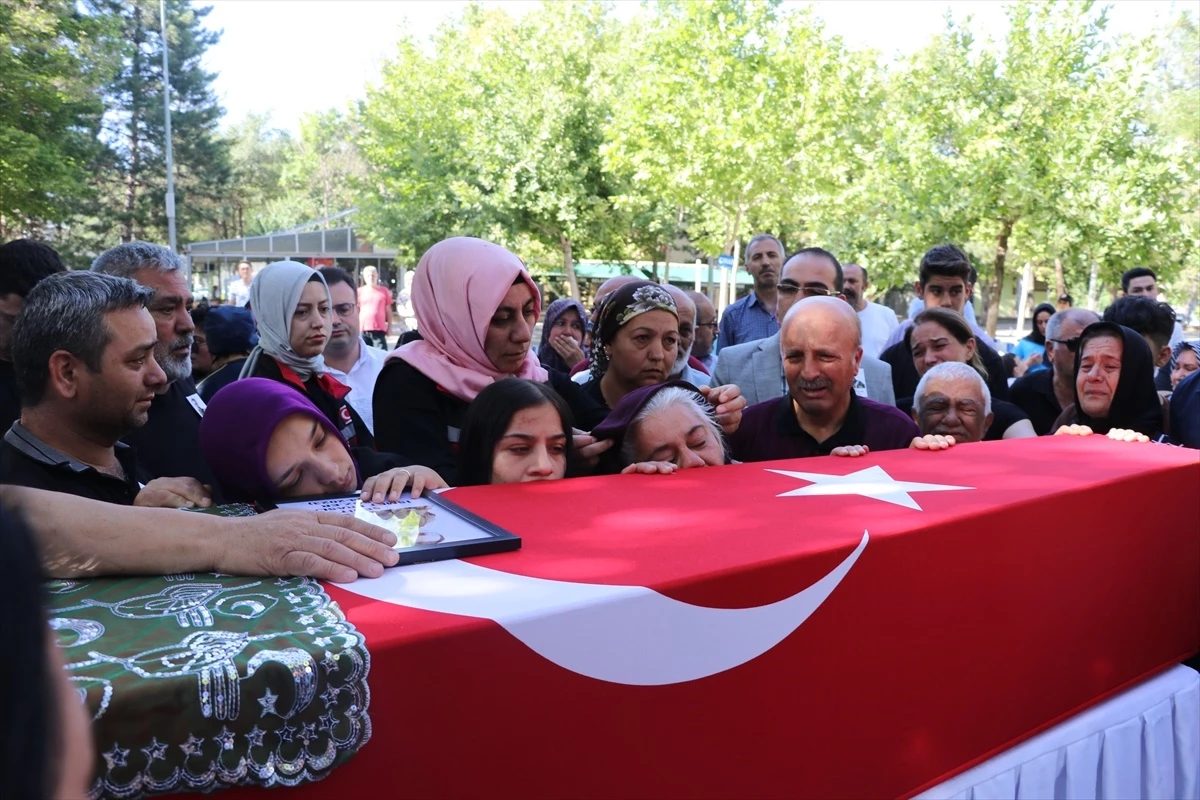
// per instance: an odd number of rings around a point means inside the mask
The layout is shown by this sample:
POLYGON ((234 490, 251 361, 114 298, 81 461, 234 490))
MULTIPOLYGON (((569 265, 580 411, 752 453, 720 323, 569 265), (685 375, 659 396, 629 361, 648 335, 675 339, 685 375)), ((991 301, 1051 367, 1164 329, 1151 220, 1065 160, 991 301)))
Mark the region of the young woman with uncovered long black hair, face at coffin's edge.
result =
POLYGON ((475 401, 462 426, 460 486, 557 481, 574 471, 571 410, 553 389, 505 378, 475 401))

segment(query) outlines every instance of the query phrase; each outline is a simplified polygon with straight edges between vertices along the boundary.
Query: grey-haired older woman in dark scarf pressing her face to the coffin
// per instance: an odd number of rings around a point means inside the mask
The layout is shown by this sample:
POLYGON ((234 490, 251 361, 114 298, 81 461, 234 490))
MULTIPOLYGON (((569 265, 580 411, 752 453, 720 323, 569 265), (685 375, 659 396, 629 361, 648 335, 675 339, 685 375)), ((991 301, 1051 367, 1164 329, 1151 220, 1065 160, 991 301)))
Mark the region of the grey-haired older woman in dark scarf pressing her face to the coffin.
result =
POLYGON ((713 407, 683 380, 635 389, 592 434, 614 441, 601 456, 607 473, 673 473, 730 463, 713 407))

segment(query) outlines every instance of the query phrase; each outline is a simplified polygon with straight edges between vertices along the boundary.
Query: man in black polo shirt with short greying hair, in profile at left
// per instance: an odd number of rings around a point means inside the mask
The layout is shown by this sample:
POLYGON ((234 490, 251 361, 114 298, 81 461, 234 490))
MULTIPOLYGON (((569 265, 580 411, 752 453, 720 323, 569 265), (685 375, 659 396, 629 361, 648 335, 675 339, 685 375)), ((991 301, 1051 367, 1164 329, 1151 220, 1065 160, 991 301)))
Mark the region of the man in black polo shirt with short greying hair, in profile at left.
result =
POLYGON ((22 409, 0 441, 0 483, 122 505, 155 505, 187 483, 193 503, 200 499, 196 481, 162 479, 143 489, 133 450, 119 444, 145 423, 167 383, 154 359, 151 296, 133 281, 90 272, 34 287, 13 331, 22 409))

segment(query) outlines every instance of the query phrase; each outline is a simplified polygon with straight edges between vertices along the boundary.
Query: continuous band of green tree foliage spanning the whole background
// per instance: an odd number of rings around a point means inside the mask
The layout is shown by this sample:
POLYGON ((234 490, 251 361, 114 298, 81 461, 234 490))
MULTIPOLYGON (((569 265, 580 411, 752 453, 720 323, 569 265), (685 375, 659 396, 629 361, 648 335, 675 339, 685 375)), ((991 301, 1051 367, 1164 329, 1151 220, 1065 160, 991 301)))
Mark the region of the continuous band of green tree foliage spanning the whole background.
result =
MULTIPOLYGON (((167 7, 182 241, 356 206, 408 259, 484 236, 571 293, 576 258, 737 254, 758 230, 904 285, 955 241, 990 324, 1025 264, 1048 281, 1061 264, 1093 299, 1147 264, 1200 301, 1190 11, 1135 42, 1090 1, 1020 0, 1002 42, 947 18, 884 64, 779 0, 661 0, 628 22, 602 2, 470 6, 430 42, 402 38, 354 108, 221 137, 206 10, 167 7)), ((164 239, 157 10, 0 0, 0 234, 68 253, 164 239)))

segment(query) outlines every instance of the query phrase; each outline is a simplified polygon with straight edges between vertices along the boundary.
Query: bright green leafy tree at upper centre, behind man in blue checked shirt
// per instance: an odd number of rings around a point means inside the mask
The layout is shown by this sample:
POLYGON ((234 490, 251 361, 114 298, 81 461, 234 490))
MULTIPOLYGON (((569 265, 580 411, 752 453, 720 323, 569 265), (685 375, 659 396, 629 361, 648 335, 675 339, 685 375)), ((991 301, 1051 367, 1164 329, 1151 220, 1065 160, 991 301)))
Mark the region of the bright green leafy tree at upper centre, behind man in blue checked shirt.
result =
POLYGON ((779 2, 653 11, 629 37, 641 56, 614 103, 606 167, 688 209, 691 241, 734 260, 751 223, 810 230, 811 200, 856 174, 852 121, 869 62, 779 2))

